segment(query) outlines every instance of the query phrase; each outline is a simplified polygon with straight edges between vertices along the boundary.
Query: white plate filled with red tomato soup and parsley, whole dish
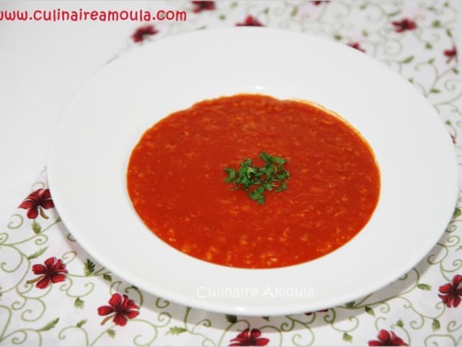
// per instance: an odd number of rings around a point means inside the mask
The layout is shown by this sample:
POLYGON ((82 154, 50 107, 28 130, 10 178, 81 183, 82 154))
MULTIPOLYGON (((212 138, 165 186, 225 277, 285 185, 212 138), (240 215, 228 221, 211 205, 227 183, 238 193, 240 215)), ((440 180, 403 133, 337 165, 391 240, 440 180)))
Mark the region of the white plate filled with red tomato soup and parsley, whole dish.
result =
POLYGON ((105 65, 60 118, 47 176, 72 237, 127 283, 272 316, 345 304, 416 265, 453 214, 457 167, 434 108, 381 63, 232 28, 105 65))

